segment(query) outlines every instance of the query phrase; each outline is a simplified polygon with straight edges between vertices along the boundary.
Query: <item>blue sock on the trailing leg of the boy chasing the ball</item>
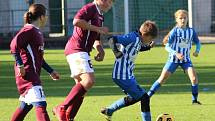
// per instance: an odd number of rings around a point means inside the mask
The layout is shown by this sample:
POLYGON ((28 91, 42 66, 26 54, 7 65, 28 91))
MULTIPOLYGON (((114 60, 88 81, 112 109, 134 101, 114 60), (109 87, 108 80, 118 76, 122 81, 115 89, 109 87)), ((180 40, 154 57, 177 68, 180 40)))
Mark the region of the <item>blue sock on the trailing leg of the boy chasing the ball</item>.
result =
POLYGON ((116 110, 125 107, 125 100, 121 98, 108 107, 108 115, 112 115, 116 110))

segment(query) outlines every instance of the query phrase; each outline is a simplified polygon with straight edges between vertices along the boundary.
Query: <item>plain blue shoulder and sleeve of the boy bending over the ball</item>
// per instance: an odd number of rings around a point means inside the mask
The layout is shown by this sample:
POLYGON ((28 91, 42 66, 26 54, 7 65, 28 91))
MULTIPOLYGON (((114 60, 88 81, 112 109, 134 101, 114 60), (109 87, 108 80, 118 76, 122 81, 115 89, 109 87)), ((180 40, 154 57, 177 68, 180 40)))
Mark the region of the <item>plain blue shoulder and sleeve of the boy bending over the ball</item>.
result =
POLYGON ((124 46, 129 45, 132 42, 136 41, 136 36, 132 33, 126 34, 126 35, 118 35, 116 36, 117 43, 120 43, 124 46))

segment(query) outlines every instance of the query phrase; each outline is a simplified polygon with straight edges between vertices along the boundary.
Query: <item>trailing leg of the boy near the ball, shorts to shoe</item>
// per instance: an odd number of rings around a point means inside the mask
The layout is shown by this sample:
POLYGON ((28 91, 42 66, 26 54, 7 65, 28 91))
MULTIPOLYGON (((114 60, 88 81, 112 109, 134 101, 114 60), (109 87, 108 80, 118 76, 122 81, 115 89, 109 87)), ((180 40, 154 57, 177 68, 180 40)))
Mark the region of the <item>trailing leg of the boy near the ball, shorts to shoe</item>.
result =
POLYGON ((101 113, 105 114, 109 119, 115 111, 140 101, 143 93, 145 93, 145 91, 137 84, 135 79, 113 80, 120 88, 122 88, 122 90, 124 90, 125 93, 128 94, 128 96, 115 101, 106 108, 101 109, 101 113))

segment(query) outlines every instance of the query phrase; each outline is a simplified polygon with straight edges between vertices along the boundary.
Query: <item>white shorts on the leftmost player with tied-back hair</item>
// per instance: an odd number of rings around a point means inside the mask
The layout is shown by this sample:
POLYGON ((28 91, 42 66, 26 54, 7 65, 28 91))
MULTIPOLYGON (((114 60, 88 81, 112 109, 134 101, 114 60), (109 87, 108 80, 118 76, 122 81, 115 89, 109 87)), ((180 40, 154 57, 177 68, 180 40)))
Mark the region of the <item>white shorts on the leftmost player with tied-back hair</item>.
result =
POLYGON ((33 86, 31 89, 28 90, 26 95, 20 96, 19 100, 31 104, 34 102, 46 101, 46 97, 43 92, 42 86, 33 86))

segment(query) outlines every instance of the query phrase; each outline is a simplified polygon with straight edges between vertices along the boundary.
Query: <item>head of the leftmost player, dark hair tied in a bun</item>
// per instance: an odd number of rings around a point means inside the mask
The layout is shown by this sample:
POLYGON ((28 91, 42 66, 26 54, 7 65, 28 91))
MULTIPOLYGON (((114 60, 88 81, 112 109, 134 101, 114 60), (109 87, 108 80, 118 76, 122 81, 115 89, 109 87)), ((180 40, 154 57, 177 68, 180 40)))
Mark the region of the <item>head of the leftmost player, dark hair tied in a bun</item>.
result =
POLYGON ((25 24, 31 24, 33 21, 36 21, 41 16, 46 15, 46 8, 42 4, 32 4, 29 7, 28 12, 24 14, 25 24))

